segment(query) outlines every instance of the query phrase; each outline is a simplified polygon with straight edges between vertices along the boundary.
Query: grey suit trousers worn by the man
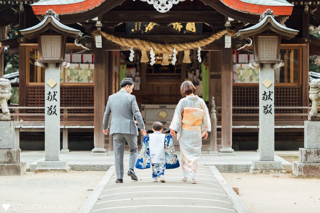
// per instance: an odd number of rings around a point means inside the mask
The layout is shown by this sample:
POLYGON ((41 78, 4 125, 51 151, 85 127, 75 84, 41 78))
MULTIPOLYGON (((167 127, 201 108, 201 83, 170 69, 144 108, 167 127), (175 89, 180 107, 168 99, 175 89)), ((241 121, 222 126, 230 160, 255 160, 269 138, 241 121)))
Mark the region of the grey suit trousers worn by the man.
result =
POLYGON ((138 157, 138 138, 134 134, 113 133, 113 149, 117 179, 123 179, 123 155, 125 141, 129 144, 129 169, 134 169, 138 157))

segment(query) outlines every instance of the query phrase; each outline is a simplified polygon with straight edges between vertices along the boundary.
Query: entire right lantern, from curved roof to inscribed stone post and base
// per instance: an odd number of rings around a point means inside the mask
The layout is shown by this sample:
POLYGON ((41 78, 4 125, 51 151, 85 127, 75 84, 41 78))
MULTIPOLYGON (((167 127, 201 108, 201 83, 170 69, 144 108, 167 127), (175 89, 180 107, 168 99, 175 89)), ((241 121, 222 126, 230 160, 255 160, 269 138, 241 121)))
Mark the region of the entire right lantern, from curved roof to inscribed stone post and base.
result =
POLYGON ((259 161, 252 161, 251 173, 263 171, 284 172, 281 161, 274 161, 274 69, 284 66, 280 60, 281 39, 291 39, 299 31, 278 23, 273 11, 267 9, 260 22, 239 30, 237 37, 252 38, 254 60, 249 66, 259 68, 259 161))

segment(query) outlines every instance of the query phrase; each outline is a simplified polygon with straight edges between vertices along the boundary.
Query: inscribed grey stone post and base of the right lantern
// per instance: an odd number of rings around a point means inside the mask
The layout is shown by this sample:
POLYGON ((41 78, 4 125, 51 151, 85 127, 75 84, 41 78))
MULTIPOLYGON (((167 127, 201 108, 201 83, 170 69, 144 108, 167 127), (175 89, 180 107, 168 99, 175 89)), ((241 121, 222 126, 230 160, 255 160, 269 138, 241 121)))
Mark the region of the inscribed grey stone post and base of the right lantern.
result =
POLYGON ((274 68, 266 63, 259 71, 259 161, 252 161, 250 173, 284 172, 275 154, 275 95, 274 68))

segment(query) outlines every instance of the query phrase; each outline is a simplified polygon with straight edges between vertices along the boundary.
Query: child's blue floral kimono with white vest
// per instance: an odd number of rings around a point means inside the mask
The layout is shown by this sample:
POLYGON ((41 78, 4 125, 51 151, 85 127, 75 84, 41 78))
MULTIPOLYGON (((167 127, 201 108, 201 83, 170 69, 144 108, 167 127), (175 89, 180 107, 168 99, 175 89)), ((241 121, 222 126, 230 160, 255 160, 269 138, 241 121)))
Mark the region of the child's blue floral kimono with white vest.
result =
POLYGON ((152 167, 153 178, 159 177, 160 175, 164 175, 164 169, 175 169, 180 166, 177 155, 176 155, 176 151, 173 146, 171 134, 169 134, 168 136, 165 136, 160 132, 155 132, 153 134, 149 134, 149 136, 147 135, 144 136, 143 145, 142 145, 140 154, 138 156, 136 168, 148 169, 150 168, 150 164, 152 167), (164 140, 163 140, 164 145, 161 145, 163 146, 161 148, 160 147, 152 148, 151 157, 150 157, 150 149, 149 149, 150 137, 151 136, 161 137, 161 135, 164 136, 164 140))

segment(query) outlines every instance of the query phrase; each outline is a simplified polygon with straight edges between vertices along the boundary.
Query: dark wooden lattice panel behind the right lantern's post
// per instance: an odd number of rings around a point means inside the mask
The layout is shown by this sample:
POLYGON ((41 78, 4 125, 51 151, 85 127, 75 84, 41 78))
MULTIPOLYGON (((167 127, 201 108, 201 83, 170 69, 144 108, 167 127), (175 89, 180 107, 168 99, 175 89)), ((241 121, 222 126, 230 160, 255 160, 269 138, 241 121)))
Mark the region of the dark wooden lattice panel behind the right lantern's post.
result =
MULTIPOLYGON (((275 106, 301 106, 300 86, 275 87, 275 106)), ((259 107, 259 87, 233 87, 232 106, 259 107)), ((259 113, 258 109, 233 109, 233 113, 259 113)), ((300 113, 300 110, 281 109, 275 113, 300 113)))

